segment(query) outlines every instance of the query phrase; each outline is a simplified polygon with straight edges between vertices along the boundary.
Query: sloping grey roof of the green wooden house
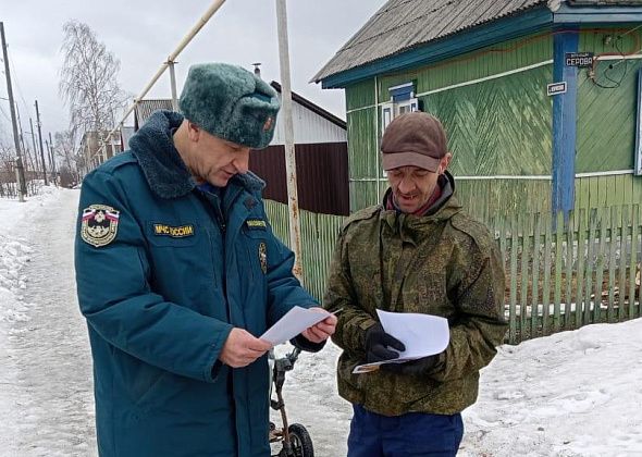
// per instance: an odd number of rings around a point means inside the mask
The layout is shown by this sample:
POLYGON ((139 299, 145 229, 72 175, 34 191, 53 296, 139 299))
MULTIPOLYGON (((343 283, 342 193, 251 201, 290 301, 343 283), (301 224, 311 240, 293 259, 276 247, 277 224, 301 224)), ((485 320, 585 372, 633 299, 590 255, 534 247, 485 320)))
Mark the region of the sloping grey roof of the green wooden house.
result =
POLYGON ((547 0, 390 0, 312 78, 383 59, 547 0))

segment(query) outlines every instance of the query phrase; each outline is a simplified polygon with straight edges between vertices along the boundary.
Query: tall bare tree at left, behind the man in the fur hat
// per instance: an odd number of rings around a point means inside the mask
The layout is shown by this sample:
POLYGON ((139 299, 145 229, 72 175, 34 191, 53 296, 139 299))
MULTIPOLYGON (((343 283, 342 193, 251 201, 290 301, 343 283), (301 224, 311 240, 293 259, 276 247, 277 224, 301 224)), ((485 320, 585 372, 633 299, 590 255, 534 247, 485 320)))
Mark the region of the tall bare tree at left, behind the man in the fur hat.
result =
POLYGON ((74 137, 98 132, 102 139, 126 99, 116 81, 120 61, 87 24, 70 21, 63 33, 59 88, 70 110, 70 131, 74 137))

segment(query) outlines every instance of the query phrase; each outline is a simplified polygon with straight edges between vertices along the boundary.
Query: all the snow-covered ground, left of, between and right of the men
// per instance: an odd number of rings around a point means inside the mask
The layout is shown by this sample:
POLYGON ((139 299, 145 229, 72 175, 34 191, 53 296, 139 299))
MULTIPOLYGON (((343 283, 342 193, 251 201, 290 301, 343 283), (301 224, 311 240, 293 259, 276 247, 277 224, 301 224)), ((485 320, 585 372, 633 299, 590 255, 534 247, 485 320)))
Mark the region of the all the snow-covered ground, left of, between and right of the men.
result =
MULTIPOLYGON (((74 291, 77 198, 47 187, 26 203, 0 199, 1 457, 96 455, 74 291)), ((338 354, 303 354, 286 375, 287 417, 308 428, 318 457, 346 454, 351 409, 336 395, 338 354)), ((464 412, 459 455, 642 457, 641 379, 642 320, 503 346, 464 412)))

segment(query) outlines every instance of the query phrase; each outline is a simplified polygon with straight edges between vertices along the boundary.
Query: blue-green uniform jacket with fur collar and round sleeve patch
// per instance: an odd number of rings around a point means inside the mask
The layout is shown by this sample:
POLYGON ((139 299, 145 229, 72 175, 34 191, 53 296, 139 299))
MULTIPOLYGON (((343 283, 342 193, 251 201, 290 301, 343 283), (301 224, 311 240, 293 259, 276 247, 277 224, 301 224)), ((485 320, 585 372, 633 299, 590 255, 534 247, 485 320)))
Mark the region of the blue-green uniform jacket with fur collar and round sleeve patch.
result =
POLYGON ((268 456, 267 356, 218 361, 233 326, 260 336, 317 306, 268 223, 248 173, 220 196, 195 187, 157 112, 132 150, 83 182, 75 245, 94 356, 102 457, 268 456))

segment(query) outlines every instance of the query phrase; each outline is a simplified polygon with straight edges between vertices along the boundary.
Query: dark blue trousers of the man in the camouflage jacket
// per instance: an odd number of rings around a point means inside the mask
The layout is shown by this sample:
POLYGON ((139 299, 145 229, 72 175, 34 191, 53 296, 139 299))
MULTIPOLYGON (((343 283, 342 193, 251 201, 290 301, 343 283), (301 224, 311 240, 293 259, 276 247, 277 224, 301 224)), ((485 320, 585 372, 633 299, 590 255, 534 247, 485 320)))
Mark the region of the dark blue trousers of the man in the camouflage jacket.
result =
POLYGON ((464 436, 461 415, 408 412, 387 417, 353 405, 348 457, 450 457, 464 436))

